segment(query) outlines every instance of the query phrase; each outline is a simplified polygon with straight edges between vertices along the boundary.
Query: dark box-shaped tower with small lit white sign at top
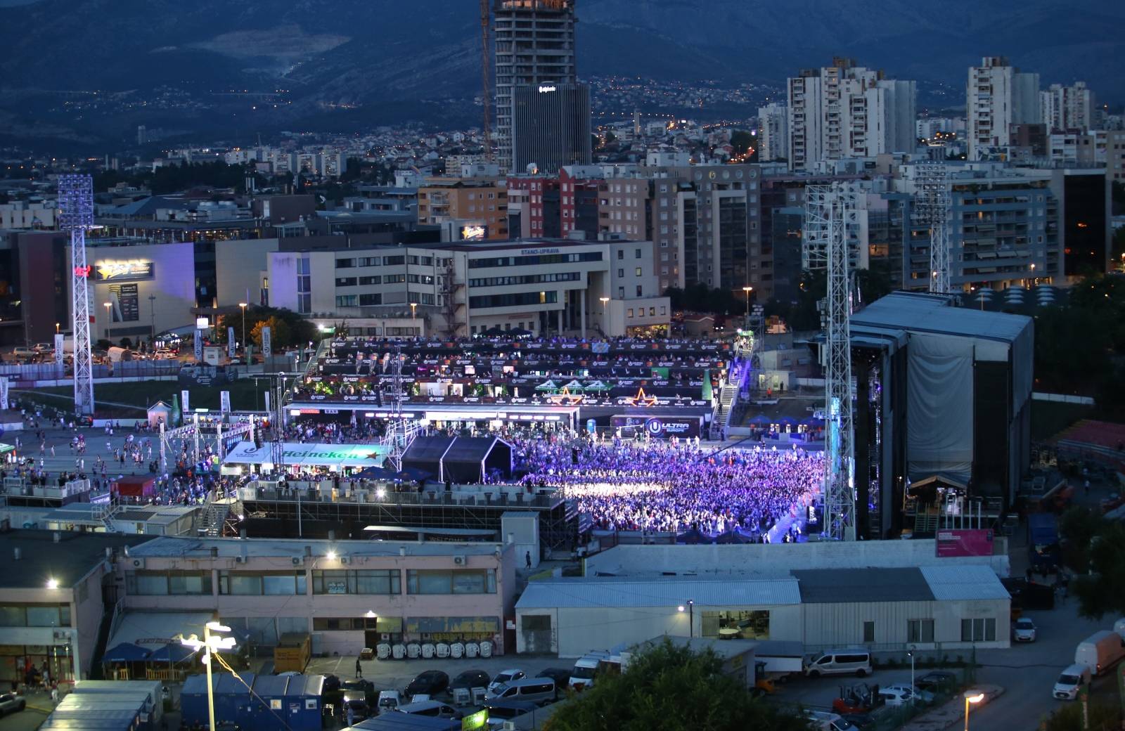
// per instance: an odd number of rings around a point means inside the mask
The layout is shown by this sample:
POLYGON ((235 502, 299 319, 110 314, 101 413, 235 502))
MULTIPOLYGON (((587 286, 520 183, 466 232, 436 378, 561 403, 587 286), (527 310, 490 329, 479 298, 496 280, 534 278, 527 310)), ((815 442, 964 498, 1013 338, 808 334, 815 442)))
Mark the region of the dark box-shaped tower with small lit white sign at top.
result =
POLYGON ((513 173, 555 174, 564 165, 588 165, 590 87, 513 87, 511 142, 513 173))

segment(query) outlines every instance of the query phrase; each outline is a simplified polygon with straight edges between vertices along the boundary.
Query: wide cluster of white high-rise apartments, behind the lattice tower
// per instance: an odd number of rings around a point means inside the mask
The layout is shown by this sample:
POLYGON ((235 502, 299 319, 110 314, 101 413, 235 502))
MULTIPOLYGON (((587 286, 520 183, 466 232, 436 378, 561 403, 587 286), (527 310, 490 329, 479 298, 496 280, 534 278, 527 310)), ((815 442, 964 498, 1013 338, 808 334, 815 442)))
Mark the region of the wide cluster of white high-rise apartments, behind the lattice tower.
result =
POLYGON ((882 71, 834 58, 789 80, 789 168, 809 170, 821 160, 914 152, 914 81, 884 79, 882 71))

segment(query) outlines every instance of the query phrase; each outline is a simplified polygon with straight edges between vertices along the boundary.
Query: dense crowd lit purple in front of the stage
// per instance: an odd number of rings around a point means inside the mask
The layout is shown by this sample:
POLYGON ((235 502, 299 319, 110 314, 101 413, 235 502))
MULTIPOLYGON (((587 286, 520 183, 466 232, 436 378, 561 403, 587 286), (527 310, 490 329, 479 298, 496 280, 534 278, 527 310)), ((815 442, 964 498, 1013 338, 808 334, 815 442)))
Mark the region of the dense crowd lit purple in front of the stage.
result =
POLYGON ((712 449, 698 440, 516 439, 528 485, 560 487, 596 527, 739 530, 760 536, 800 515, 824 479, 824 458, 798 449, 712 449))

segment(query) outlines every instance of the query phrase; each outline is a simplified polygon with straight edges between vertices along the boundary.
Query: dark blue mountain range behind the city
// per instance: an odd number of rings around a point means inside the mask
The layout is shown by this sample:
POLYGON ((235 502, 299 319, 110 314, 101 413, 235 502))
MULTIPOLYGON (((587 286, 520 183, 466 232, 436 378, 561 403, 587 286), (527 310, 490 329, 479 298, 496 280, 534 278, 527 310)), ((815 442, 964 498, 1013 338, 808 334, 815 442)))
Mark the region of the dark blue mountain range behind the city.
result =
MULTIPOLYGON (((359 128, 451 115, 471 124, 478 12, 474 0, 0 0, 0 134, 42 127, 125 138, 145 119, 186 129, 314 119, 359 128), (158 88, 287 93, 262 114, 178 110, 170 119, 145 105, 87 105, 68 116, 56 101, 58 92, 143 97, 158 88), (48 108, 50 126, 29 116, 48 108)), ((945 103, 956 107, 968 66, 1007 55, 1044 87, 1080 79, 1099 100, 1125 100, 1125 3, 1105 0, 578 0, 577 13, 579 75, 780 84, 849 56, 892 78, 945 84, 945 103)))

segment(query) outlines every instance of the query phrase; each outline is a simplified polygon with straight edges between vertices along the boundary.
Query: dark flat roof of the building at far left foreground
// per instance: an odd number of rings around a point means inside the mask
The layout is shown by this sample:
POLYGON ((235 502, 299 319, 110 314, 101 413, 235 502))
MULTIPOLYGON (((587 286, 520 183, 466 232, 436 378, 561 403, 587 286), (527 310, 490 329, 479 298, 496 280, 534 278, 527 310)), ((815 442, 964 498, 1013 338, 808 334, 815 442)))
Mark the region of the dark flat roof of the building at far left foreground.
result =
POLYGON ((70 531, 11 531, 3 535, 4 561, 8 570, 0 577, 0 587, 38 589, 48 579, 60 587, 73 587, 98 563, 106 560, 106 549, 120 553, 124 548, 151 541, 147 535, 109 535, 70 531), (54 536, 58 536, 58 541, 54 536), (19 549, 19 560, 15 551, 19 549))

